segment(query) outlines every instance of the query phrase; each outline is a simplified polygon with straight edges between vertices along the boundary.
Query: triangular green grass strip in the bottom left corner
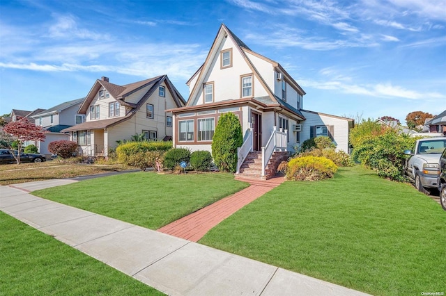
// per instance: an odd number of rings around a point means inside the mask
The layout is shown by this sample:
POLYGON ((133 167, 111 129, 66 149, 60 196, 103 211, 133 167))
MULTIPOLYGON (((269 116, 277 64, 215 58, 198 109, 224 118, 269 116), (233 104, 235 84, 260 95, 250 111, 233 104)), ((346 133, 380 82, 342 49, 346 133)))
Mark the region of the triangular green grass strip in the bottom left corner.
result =
POLYGON ((0 295, 164 295, 0 212, 0 295))

